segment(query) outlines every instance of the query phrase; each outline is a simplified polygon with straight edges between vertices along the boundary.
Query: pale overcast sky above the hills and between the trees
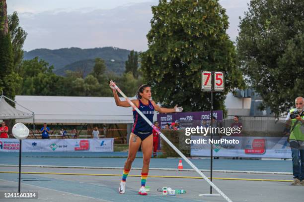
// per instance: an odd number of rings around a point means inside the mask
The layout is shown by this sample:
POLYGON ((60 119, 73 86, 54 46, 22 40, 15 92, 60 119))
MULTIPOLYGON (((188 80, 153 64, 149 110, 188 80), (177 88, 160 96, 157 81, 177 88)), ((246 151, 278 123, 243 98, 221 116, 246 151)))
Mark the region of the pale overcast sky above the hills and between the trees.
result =
MULTIPOLYGON (((227 9, 228 35, 238 35, 238 17, 250 0, 220 0, 227 9)), ((82 49, 113 46, 147 50, 152 18, 151 6, 158 0, 6 0, 7 12, 18 12, 28 33, 24 50, 38 48, 82 49)))

